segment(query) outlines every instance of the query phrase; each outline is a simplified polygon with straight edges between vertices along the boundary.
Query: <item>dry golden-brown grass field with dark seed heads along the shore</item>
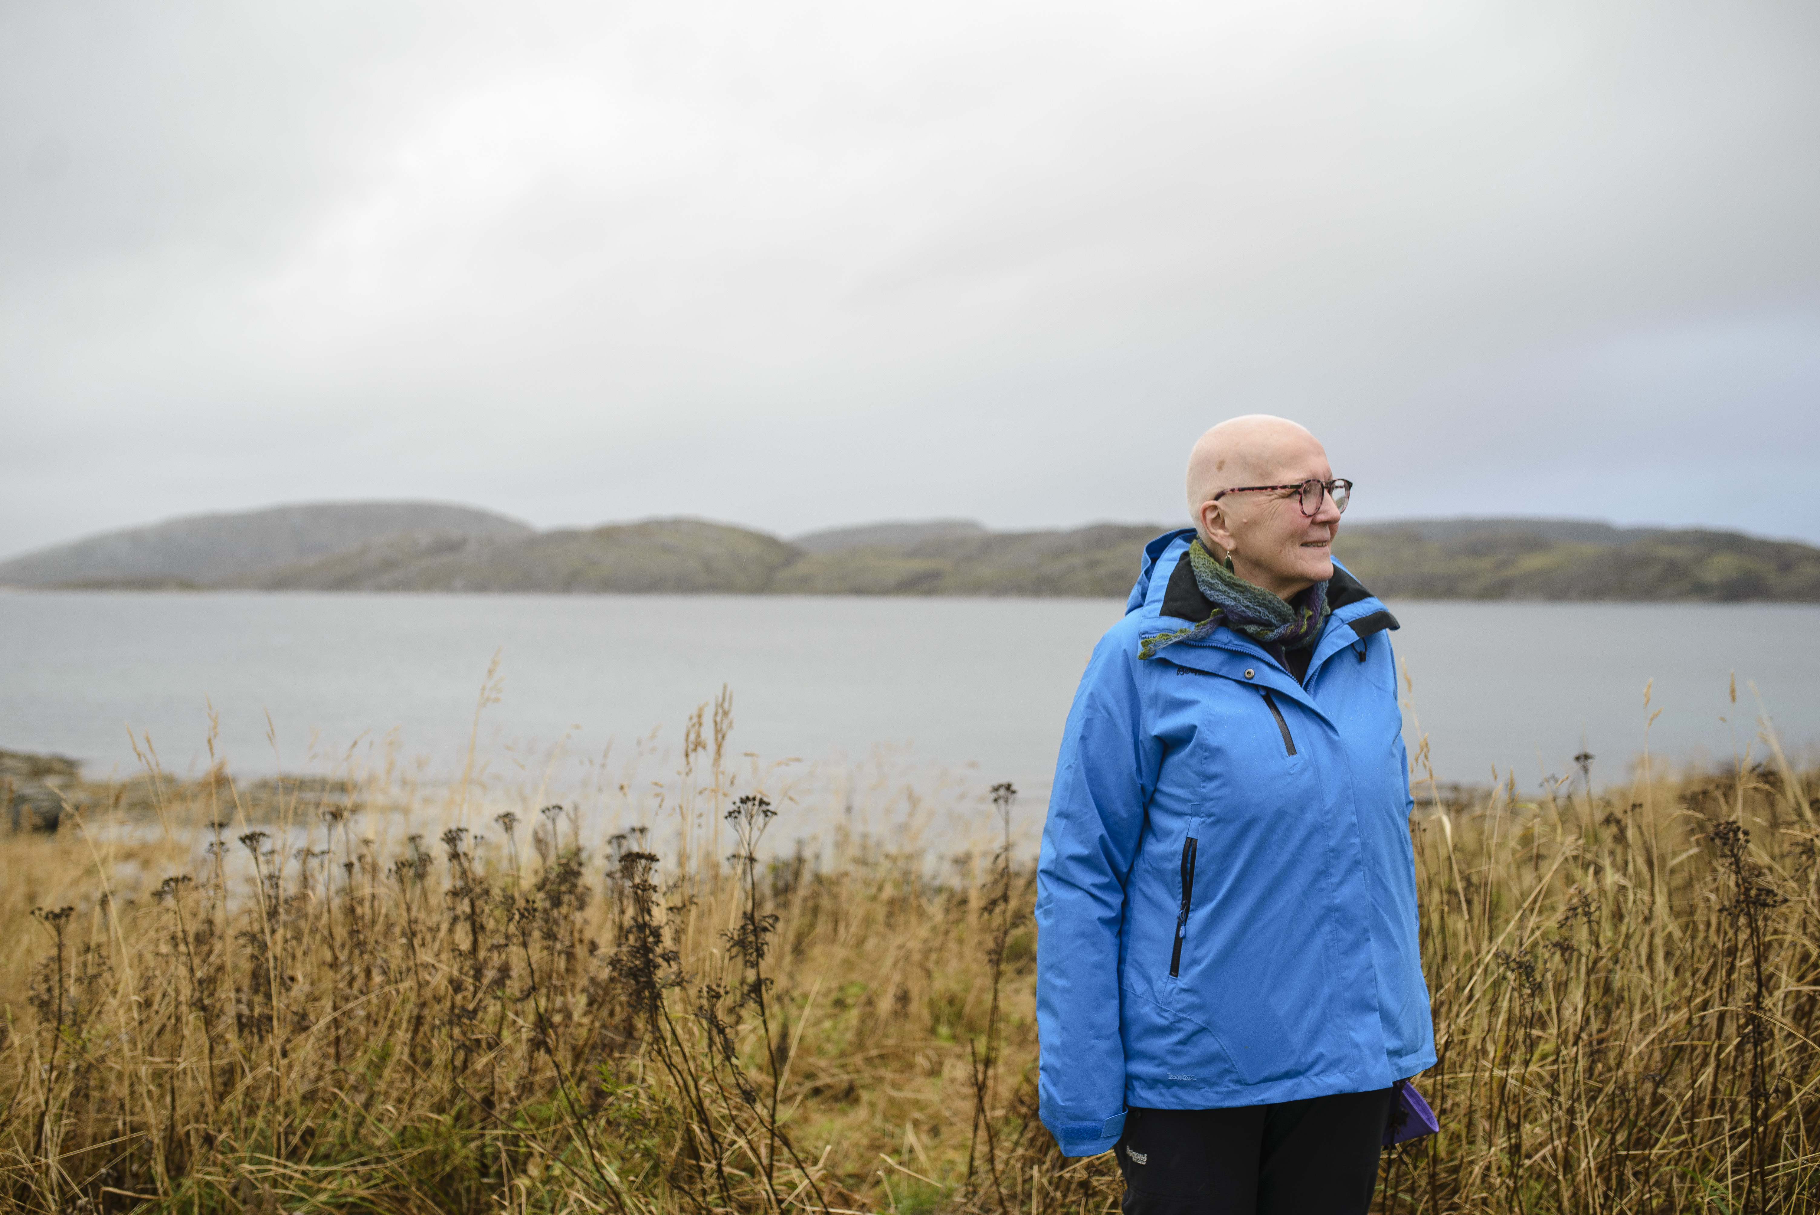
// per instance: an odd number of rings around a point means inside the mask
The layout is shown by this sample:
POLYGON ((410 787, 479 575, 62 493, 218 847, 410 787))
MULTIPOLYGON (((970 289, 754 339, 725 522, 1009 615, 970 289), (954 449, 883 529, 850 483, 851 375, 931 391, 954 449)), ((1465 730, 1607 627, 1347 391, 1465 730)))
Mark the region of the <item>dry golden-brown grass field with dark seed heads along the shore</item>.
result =
MULTIPOLYGON (((1041 809, 981 804, 997 848, 774 855, 803 811, 728 726, 606 838, 382 771, 257 811, 157 777, 140 817, 4 840, 0 1206, 1116 1210, 1110 1155, 1034 1119, 1003 824, 1041 809)), ((1816 775, 1421 773, 1443 1131, 1385 1155, 1378 1210, 1820 1210, 1816 775)))

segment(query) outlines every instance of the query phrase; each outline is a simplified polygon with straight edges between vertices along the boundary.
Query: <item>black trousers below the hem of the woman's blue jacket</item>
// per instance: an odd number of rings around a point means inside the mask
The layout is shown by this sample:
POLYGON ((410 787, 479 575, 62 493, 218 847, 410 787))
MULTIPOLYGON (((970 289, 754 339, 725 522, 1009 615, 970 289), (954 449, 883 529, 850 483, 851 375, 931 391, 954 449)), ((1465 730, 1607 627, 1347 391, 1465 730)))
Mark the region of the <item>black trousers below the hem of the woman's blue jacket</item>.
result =
POLYGON ((1132 1110, 1125 1215, 1363 1215, 1394 1088, 1236 1110, 1132 1110))

